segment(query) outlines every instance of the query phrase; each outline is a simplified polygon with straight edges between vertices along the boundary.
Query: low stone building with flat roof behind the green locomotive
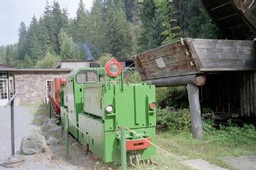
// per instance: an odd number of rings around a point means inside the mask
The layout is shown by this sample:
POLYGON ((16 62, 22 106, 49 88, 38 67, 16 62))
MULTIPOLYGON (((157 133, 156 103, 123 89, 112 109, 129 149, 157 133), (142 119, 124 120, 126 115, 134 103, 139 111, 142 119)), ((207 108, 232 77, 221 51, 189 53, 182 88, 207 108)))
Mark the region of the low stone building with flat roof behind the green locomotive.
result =
MULTIPOLYGON (((133 60, 120 62, 123 68, 134 65, 133 60)), ((17 94, 16 105, 45 103, 47 88, 53 78, 65 77, 74 68, 98 68, 100 66, 97 61, 93 60, 63 60, 52 69, 19 69, 0 64, 0 106, 6 105, 14 92, 17 94)))

